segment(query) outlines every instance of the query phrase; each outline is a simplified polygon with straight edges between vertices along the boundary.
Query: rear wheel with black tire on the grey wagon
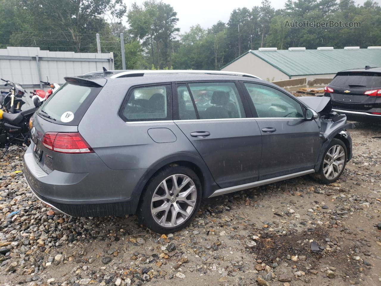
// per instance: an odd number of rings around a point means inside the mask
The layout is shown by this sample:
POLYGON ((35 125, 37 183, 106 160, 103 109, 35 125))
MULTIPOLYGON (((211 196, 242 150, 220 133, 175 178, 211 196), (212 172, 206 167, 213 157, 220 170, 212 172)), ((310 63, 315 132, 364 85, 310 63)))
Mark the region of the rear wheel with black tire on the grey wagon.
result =
POLYGON ((201 202, 201 183, 184 166, 168 166, 155 174, 142 193, 137 215, 157 233, 173 233, 189 225, 201 202))

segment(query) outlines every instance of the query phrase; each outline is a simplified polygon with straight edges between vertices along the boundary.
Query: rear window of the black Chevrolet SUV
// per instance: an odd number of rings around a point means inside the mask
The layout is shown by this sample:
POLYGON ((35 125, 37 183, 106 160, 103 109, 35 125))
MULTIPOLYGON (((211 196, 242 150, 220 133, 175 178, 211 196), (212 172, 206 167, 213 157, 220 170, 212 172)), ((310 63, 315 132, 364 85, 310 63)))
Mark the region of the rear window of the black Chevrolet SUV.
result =
POLYGON ((381 74, 376 72, 339 72, 331 81, 335 87, 381 87, 381 74))

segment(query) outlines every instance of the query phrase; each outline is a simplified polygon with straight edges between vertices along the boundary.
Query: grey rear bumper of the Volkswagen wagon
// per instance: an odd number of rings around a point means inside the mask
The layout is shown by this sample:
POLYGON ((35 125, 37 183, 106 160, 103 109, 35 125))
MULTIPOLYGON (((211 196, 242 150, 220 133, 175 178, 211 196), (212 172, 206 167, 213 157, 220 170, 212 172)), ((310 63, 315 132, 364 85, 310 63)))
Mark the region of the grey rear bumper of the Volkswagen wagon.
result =
MULTIPOLYGON (((130 179, 145 171, 137 172, 136 170, 125 170, 131 172, 123 172, 123 174, 128 173, 128 179, 130 179)), ((109 174, 104 174, 104 177, 100 177, 99 174, 59 171, 46 174, 35 161, 31 146, 24 155, 24 176, 34 195, 54 210, 72 217, 100 217, 135 213, 139 195, 132 194, 132 191, 134 183, 137 182, 131 180, 126 184, 125 176, 123 177, 120 170, 110 169, 110 172, 118 172, 117 175, 121 175, 120 180, 110 182, 107 177, 109 174), (89 180, 91 184, 88 183, 89 180), (107 182, 108 188, 104 187, 104 181, 107 182), (125 187, 128 185, 130 188, 126 190, 126 188, 122 188, 123 185, 125 187), (88 199, 92 197, 92 194, 96 198, 99 198, 99 194, 103 195, 101 199, 88 199), (117 195, 120 199, 115 198, 117 195)), ((111 177, 114 176, 111 175, 111 177)))

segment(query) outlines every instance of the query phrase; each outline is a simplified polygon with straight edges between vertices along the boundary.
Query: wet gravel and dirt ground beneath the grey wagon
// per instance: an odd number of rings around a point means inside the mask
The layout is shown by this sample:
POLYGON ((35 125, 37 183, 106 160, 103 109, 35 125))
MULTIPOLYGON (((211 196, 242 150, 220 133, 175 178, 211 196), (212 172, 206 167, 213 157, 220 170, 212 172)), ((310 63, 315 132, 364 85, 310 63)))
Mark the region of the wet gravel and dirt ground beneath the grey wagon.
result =
POLYGON ((381 127, 351 136, 338 182, 304 176, 207 199, 167 236, 133 216, 52 214, 13 147, 0 160, 0 285, 381 285, 381 127))

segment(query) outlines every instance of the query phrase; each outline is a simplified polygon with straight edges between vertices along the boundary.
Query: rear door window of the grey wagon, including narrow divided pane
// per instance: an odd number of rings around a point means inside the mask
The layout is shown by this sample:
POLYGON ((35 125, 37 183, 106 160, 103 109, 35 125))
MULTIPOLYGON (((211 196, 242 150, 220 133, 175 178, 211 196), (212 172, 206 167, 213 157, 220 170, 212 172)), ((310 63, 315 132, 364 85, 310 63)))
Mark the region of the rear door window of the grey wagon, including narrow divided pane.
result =
POLYGON ((185 86, 178 88, 180 119, 196 119, 191 96, 199 119, 245 117, 242 101, 234 82, 190 83, 188 86, 189 90, 185 86))

